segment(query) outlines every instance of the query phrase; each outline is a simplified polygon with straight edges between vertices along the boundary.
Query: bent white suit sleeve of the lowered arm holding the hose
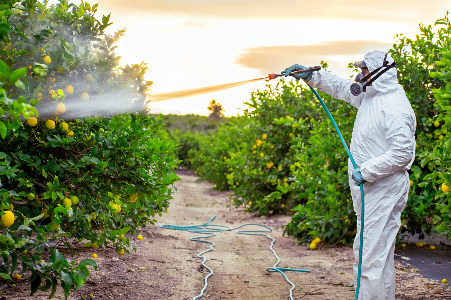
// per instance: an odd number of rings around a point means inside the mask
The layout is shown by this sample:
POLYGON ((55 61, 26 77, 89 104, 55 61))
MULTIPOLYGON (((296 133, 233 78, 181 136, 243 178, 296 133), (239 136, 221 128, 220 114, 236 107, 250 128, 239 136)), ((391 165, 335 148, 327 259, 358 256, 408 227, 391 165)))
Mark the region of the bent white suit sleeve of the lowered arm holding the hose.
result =
POLYGON ((402 171, 415 155, 415 128, 410 114, 382 111, 381 126, 389 148, 384 154, 365 161, 360 166, 362 177, 373 182, 402 171))

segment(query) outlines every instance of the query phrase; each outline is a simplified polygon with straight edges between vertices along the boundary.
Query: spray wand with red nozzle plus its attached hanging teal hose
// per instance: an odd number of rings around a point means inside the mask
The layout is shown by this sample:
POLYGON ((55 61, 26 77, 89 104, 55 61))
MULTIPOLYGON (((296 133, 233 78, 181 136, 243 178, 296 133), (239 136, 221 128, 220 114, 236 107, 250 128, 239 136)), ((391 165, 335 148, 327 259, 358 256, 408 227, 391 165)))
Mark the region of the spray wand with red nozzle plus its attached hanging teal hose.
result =
MULTIPOLYGON (((316 67, 309 67, 305 70, 299 70, 299 71, 295 71, 295 72, 291 72, 290 75, 293 74, 299 74, 299 73, 303 73, 303 72, 315 72, 315 71, 319 71, 321 70, 320 66, 316 66, 316 67)), ((268 74, 268 78, 269 79, 274 79, 276 77, 282 76, 285 74, 268 74)), ((324 110, 327 113, 327 116, 329 117, 329 119, 331 119, 332 121, 332 125, 334 125, 336 132, 338 133, 338 137, 341 140, 341 143, 343 144, 343 146, 345 147, 346 152, 349 155, 349 158, 351 160, 352 165, 354 166, 354 169, 357 168, 357 165, 355 164, 354 161, 354 157, 352 157, 351 152, 349 151, 348 145, 345 142, 345 139, 343 139, 343 135, 341 135, 340 129, 338 129, 338 126, 334 120, 334 118, 332 117, 331 113, 329 112, 329 109, 327 108, 326 104, 324 103, 324 101, 322 101, 321 97, 319 96, 318 92, 313 89, 313 87, 309 84, 307 84, 308 87, 310 88, 310 90, 312 90, 313 94, 315 94, 316 98, 319 100, 319 102, 321 103, 322 107, 324 107, 324 110)), ((360 221, 360 243, 359 243, 359 271, 357 273, 357 285, 355 287, 355 298, 354 300, 357 300, 359 298, 359 290, 360 290, 360 274, 362 272, 362 249, 363 249, 363 243, 364 243, 364 219, 365 219, 365 196, 364 196, 364 184, 360 184, 360 198, 362 200, 362 211, 361 211, 361 215, 362 215, 362 219, 360 221)))

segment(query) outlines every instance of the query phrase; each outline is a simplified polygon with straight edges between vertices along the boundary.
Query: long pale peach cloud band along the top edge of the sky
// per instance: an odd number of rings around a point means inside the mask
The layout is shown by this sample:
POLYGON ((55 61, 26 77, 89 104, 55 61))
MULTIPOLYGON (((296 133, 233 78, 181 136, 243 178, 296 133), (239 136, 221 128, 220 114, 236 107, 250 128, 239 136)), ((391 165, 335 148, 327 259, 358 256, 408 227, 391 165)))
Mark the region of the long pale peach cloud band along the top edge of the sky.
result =
POLYGON ((388 22, 426 22, 431 18, 442 17, 448 6, 446 0, 134 0, 133 3, 128 3, 126 8, 123 0, 98 2, 99 6, 108 6, 110 9, 135 9, 153 14, 176 13, 247 19, 332 18, 388 22))

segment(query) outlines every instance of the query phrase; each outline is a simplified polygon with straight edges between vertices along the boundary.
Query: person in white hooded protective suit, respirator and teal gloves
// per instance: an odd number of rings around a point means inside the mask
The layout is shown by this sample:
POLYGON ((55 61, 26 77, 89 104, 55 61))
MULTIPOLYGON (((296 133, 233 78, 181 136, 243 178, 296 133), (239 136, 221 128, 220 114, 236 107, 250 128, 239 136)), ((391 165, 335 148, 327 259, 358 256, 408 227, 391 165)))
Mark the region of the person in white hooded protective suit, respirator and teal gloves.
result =
MULTIPOLYGON (((414 111, 398 84, 396 62, 390 54, 372 51, 359 67, 355 83, 327 71, 291 75, 314 88, 358 108, 348 160, 349 185, 357 215, 354 239, 354 287, 359 265, 361 198, 364 183, 365 215, 359 300, 394 300, 396 270, 393 262, 400 216, 407 203, 410 170, 415 157, 414 111), (351 87, 351 85, 353 85, 351 87)), ((306 69, 287 68, 285 76, 306 69)))

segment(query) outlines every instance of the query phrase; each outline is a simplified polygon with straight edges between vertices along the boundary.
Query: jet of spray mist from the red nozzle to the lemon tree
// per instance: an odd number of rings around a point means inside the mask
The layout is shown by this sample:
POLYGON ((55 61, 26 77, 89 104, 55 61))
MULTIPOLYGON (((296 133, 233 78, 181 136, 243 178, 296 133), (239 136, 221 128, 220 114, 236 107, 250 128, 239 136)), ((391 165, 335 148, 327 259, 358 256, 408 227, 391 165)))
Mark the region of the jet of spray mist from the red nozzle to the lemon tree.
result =
MULTIPOLYGON (((150 102, 159 102, 173 98, 188 97, 193 95, 207 94, 219 90, 229 89, 239 85, 245 85, 254 81, 259 81, 263 78, 256 78, 252 80, 239 81, 234 83, 227 83, 224 85, 211 85, 198 89, 180 90, 176 92, 155 94, 149 96, 147 102, 145 102, 146 95, 140 94, 102 94, 91 95, 89 101, 84 101, 81 98, 66 99, 63 103, 66 107, 66 113, 61 116, 63 119, 77 119, 87 116, 95 115, 115 115, 126 112, 138 112, 147 107, 150 102)), ((55 107, 57 103, 46 103, 44 105, 37 106, 39 112, 39 118, 47 118, 55 115, 55 107)))

